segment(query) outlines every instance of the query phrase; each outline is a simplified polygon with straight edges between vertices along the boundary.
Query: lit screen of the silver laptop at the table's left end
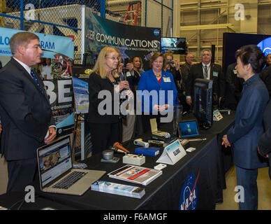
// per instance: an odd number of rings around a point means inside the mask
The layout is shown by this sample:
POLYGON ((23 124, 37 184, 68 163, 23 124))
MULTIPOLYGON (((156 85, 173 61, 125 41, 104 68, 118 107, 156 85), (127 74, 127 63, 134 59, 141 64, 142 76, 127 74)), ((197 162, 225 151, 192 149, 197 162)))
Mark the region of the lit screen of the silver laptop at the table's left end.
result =
POLYGON ((72 167, 70 137, 65 137, 38 149, 41 187, 54 181, 72 167))

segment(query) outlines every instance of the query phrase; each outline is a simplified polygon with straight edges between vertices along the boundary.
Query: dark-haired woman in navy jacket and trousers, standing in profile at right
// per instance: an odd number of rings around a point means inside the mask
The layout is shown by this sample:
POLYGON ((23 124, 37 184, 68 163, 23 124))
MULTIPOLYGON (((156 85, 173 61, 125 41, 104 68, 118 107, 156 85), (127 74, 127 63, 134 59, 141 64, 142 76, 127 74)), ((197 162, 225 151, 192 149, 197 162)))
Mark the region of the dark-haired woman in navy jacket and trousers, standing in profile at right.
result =
POLYGON ((256 45, 244 45, 235 52, 237 77, 244 79, 242 96, 237 105, 235 123, 224 135, 222 145, 231 146, 236 166, 237 186, 242 186, 239 209, 258 209, 258 168, 267 161, 258 155, 258 140, 263 134, 263 113, 268 103, 268 90, 259 77, 265 55, 256 45))

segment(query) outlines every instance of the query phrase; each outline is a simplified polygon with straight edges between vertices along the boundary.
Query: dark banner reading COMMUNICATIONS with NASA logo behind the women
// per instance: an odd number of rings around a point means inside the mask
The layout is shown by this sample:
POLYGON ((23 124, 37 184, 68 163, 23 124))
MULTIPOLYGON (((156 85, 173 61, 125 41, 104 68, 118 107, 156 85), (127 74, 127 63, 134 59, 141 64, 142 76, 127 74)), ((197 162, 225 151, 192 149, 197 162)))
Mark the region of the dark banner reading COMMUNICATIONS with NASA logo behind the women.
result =
POLYGON ((149 69, 149 58, 160 51, 161 29, 124 25, 101 18, 86 8, 85 52, 100 52, 105 46, 114 46, 122 59, 141 57, 144 69, 149 69))

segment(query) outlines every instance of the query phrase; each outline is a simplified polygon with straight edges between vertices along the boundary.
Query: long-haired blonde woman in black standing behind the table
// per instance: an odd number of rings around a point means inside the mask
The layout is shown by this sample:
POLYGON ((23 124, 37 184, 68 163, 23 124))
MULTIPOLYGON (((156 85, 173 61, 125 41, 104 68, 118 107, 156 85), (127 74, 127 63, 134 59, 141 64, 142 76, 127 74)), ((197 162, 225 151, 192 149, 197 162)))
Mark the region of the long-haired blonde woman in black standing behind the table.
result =
POLYGON ((92 155, 99 153, 115 142, 122 141, 122 120, 115 95, 129 89, 126 80, 120 81, 117 74, 119 52, 105 47, 98 55, 93 72, 89 76, 88 125, 91 134, 92 155), (106 104, 107 103, 107 104, 106 104))

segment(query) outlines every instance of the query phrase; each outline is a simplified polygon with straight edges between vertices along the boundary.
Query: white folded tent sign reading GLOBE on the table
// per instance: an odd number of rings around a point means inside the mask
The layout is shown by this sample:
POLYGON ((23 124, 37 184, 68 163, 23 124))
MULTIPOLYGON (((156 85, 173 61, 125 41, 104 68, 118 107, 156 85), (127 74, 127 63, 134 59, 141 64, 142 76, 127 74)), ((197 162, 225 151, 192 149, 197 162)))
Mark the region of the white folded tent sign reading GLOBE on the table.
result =
POLYGON ((175 165, 175 163, 182 159, 184 155, 186 155, 186 151, 182 147, 179 139, 177 139, 163 149, 162 155, 156 162, 175 165))

